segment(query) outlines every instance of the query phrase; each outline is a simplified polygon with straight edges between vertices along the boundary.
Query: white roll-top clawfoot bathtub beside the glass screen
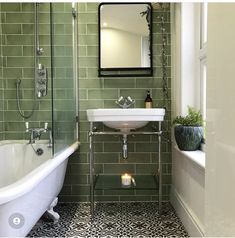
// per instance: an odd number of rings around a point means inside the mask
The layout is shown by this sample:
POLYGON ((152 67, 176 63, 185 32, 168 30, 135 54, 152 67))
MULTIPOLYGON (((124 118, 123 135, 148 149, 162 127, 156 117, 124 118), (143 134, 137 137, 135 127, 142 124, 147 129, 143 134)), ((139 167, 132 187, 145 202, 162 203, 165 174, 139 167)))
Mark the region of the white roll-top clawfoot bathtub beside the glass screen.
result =
MULTIPOLYGON (((39 142, 41 143, 41 142, 39 142)), ((46 143, 37 155, 28 141, 0 142, 0 236, 26 236, 34 224, 49 211, 63 186, 68 157, 78 148, 75 142, 52 157, 46 143)))

